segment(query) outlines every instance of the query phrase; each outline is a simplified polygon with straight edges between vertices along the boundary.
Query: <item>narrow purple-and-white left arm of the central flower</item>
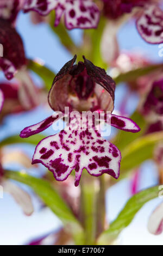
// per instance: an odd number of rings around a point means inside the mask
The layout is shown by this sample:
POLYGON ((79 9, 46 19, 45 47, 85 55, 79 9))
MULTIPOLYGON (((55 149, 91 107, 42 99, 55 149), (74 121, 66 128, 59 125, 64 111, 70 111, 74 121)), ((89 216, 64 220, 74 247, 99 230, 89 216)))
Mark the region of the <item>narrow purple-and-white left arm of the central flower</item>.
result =
POLYGON ((59 118, 59 115, 51 115, 50 117, 46 118, 45 120, 41 121, 40 123, 28 126, 24 128, 21 133, 21 138, 28 138, 34 134, 40 133, 46 129, 48 129, 49 126, 53 124, 54 121, 57 121, 59 118))

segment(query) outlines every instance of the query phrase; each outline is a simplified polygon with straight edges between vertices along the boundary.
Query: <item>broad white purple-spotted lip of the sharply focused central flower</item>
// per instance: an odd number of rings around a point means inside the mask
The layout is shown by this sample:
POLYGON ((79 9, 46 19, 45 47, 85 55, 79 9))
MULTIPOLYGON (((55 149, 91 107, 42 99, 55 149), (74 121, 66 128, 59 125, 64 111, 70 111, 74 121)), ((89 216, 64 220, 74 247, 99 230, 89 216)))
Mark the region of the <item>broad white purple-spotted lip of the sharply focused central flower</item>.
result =
POLYGON ((35 149, 32 163, 42 163, 58 181, 66 180, 75 169, 75 186, 79 185, 83 169, 92 176, 107 173, 117 179, 121 153, 115 145, 95 130, 73 130, 72 127, 43 139, 35 149))

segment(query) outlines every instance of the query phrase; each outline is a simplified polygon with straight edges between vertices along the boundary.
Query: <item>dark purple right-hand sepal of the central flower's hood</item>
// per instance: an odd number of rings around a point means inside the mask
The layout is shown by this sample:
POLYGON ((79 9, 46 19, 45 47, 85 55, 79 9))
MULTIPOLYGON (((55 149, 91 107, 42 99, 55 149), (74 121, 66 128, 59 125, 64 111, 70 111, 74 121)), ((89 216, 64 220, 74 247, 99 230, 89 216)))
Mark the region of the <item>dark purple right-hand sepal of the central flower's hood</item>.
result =
MULTIPOLYGON (((110 99, 108 95, 108 100, 110 102, 110 107, 108 108, 108 111, 113 111, 114 109, 114 99, 115 99, 115 82, 112 80, 110 76, 108 76, 104 69, 99 68, 98 66, 93 65, 90 60, 84 58, 84 64, 87 70, 87 74, 92 78, 93 81, 95 81, 97 84, 100 84, 109 94, 110 99)), ((103 90, 103 93, 105 92, 103 90)))

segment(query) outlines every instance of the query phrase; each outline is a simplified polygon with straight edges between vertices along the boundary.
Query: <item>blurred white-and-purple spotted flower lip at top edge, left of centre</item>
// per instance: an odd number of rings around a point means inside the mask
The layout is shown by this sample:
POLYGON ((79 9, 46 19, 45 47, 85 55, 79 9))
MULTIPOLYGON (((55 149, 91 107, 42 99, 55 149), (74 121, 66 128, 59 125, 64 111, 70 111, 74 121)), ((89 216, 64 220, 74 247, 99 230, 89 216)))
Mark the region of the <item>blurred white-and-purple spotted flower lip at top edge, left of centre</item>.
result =
POLYGON ((26 0, 23 9, 25 13, 32 10, 40 15, 55 10, 54 26, 58 26, 64 15, 68 29, 96 28, 99 21, 99 10, 91 0, 26 0))

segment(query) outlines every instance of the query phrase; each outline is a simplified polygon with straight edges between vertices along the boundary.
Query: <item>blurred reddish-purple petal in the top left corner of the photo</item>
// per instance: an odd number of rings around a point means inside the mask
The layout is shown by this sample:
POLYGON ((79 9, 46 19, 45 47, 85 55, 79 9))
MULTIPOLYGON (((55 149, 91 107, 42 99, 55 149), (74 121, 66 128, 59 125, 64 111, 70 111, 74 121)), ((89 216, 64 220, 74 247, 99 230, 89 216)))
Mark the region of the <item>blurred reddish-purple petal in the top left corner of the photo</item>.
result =
POLYGON ((1 0, 0 18, 13 22, 16 19, 22 0, 1 0))

